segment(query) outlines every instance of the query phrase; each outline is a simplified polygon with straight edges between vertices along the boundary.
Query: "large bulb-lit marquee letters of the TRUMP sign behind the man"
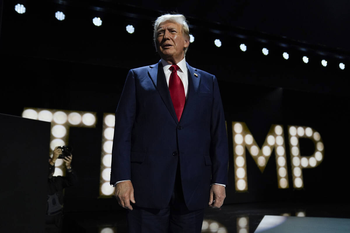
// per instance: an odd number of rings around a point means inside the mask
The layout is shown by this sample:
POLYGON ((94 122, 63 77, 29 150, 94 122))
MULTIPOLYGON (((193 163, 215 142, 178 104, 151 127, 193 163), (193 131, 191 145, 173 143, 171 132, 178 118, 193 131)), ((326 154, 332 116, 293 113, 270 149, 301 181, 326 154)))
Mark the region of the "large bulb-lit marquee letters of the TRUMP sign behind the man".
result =
MULTIPOLYGON (((51 122, 50 156, 52 156, 52 151, 56 146, 68 144, 70 127, 96 127, 96 112, 25 108, 22 112, 22 117, 51 122)), ((114 188, 110 185, 114 121, 113 113, 104 113, 100 164, 100 197, 110 197, 114 193, 114 188)), ((248 190, 246 148, 261 172, 264 172, 268 159, 274 150, 278 188, 286 189, 289 187, 285 137, 282 125, 271 126, 261 148, 255 142, 244 122, 232 122, 232 136, 233 158, 235 161, 235 188, 237 191, 248 190)), ((300 189, 304 187, 302 169, 314 168, 322 162, 324 145, 320 133, 310 127, 288 126, 288 136, 293 187, 300 189), (309 138, 314 142, 316 149, 313 155, 301 156, 300 137, 309 138)), ((63 161, 57 160, 55 166, 54 175, 64 175, 63 161)))

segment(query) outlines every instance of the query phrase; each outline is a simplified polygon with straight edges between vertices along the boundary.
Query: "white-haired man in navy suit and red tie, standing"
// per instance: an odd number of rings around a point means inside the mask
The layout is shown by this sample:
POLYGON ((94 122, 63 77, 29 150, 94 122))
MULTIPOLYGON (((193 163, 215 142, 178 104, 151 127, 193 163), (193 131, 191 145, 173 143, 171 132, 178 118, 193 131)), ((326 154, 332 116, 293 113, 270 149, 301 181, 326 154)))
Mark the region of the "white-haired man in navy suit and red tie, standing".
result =
POLYGON ((154 24, 161 60, 130 70, 116 111, 111 184, 133 233, 201 232, 228 183, 228 140, 216 77, 184 58, 183 15, 154 24))

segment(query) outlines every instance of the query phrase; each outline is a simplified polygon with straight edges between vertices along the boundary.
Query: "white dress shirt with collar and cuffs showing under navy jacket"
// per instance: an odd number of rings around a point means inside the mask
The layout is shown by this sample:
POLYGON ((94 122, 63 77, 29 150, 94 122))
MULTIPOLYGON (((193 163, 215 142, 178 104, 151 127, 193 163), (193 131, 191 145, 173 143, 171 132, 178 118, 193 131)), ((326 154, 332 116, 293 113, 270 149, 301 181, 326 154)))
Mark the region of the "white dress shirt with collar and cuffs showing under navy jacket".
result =
MULTIPOLYGON (((170 74, 172 73, 172 71, 169 70, 169 68, 170 68, 170 66, 172 66, 172 64, 167 63, 163 58, 161 59, 161 63, 163 65, 165 78, 167 80, 167 84, 168 84, 168 87, 169 87, 170 74)), ((180 67, 180 69, 177 70, 177 75, 179 75, 179 77, 180 77, 180 79, 182 81, 183 88, 185 89, 186 100, 187 100, 187 94, 188 94, 188 71, 187 71, 187 65, 186 65, 185 57, 179 63, 177 63, 176 65, 180 67)), ((118 182, 116 182, 113 185, 113 187, 115 187, 116 184, 118 184, 119 182, 123 182, 123 181, 130 181, 130 180, 118 181, 118 182)), ((222 186, 226 187, 225 184, 219 184, 219 185, 222 185, 222 186)))

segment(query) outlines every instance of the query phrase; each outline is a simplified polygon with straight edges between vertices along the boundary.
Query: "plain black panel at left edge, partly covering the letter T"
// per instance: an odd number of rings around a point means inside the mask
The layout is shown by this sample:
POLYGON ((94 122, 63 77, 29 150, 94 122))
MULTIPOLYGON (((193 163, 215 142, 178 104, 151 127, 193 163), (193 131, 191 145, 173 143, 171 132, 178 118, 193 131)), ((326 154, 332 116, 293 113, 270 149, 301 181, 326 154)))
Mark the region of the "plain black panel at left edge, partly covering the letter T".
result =
POLYGON ((0 232, 43 232, 50 123, 0 114, 0 232))

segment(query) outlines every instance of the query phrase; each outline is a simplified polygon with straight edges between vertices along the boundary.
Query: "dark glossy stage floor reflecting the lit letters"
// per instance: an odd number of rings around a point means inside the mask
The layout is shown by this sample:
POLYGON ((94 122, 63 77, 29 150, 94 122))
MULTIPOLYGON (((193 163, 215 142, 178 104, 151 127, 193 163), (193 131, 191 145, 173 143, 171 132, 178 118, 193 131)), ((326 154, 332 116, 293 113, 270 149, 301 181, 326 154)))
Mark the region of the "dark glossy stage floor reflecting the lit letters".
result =
MULTIPOLYGON (((350 218, 349 203, 243 203, 206 209, 202 233, 254 233, 265 215, 350 218)), ((70 212, 63 232, 126 233, 124 210, 70 212)))

